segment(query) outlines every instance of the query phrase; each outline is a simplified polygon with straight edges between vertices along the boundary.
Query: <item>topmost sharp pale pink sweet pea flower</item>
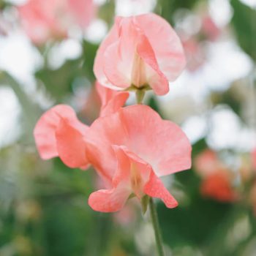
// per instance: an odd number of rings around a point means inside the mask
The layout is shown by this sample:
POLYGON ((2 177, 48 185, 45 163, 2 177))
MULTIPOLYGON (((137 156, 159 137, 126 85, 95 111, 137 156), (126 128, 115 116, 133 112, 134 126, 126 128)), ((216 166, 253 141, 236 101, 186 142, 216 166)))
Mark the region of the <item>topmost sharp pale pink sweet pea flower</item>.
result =
POLYGON ((168 81, 185 66, 180 40, 169 23, 155 14, 117 17, 102 42, 94 73, 102 86, 128 89, 150 86, 158 95, 167 94, 168 81))

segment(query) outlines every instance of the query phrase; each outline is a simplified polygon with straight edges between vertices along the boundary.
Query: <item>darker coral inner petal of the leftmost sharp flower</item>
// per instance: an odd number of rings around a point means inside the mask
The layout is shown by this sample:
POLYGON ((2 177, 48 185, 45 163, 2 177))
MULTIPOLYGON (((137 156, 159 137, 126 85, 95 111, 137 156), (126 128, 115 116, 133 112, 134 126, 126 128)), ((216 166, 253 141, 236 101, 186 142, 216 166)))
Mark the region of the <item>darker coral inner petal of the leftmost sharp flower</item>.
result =
POLYGON ((69 120, 61 118, 56 129, 56 142, 59 157, 68 167, 85 169, 89 165, 86 158, 86 143, 83 140, 87 129, 86 126, 79 129, 69 120))

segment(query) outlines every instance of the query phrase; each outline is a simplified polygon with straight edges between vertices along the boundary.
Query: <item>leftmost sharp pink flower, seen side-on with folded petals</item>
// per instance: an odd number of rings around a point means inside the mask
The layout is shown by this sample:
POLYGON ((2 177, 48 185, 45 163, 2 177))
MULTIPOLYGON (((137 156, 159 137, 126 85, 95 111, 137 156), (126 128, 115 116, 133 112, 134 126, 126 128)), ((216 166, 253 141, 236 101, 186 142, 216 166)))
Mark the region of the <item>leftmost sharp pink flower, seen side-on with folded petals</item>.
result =
POLYGON ((56 105, 39 118, 34 128, 40 157, 60 157, 69 167, 87 167, 89 162, 83 137, 88 129, 89 127, 78 120, 72 108, 56 105))

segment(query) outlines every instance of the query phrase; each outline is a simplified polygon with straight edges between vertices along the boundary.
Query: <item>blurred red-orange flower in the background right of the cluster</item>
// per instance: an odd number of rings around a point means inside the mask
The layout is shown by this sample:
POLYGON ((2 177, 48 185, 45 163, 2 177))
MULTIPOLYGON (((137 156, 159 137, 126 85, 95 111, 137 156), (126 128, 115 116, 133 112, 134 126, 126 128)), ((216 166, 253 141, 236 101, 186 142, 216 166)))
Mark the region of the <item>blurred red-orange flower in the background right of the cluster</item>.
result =
POLYGON ((195 158, 195 170, 203 178, 201 193, 220 202, 238 200, 238 192, 233 187, 233 173, 209 149, 195 158))

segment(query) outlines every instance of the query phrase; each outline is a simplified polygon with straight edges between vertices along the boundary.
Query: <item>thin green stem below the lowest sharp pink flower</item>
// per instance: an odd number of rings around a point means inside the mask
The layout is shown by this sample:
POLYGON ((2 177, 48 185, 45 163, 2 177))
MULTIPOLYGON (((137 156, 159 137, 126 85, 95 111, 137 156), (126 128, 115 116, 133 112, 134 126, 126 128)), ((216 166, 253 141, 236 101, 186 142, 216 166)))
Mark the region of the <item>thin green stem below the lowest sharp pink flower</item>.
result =
POLYGON ((162 237, 157 217, 157 209, 154 205, 154 201, 152 197, 149 199, 149 208, 150 208, 150 215, 151 215, 151 221, 154 227, 154 236, 156 238, 156 244, 157 244, 157 251, 159 256, 165 256, 165 252, 162 246, 162 237))

